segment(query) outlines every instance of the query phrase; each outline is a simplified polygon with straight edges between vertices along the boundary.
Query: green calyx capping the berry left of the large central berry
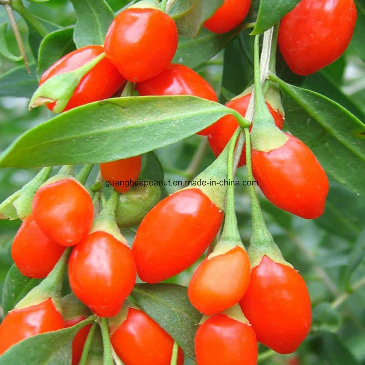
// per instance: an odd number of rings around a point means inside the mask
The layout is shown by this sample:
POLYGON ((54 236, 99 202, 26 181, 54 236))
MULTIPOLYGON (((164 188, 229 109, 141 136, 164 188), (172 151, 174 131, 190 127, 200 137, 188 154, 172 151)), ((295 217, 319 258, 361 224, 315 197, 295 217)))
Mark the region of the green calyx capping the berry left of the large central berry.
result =
POLYGON ((91 227, 90 234, 96 231, 104 231, 111 234, 118 241, 128 246, 127 240, 120 233, 115 221, 115 209, 118 203, 118 192, 113 189, 112 194, 103 206, 101 212, 96 216, 91 227))

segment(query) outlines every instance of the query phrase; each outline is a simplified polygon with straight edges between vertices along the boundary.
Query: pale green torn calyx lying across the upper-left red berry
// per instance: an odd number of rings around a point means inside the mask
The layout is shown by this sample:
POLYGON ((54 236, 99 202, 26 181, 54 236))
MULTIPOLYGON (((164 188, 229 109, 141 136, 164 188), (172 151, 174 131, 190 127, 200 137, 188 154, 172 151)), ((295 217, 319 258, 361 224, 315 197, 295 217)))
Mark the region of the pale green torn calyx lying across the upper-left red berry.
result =
POLYGON ((29 110, 41 105, 56 102, 53 112, 62 112, 81 79, 104 57, 105 54, 102 53, 86 65, 83 65, 74 71, 58 74, 49 78, 33 94, 29 103, 29 110))

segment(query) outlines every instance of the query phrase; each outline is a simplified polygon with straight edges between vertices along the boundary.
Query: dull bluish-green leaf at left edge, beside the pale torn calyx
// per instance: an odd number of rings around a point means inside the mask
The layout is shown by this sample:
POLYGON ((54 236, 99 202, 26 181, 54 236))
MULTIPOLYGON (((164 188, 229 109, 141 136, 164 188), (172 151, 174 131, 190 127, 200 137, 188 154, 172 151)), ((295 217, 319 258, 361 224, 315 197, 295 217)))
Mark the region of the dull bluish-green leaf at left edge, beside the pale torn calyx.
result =
POLYGON ((35 76, 37 65, 30 66, 28 75, 25 66, 16 67, 0 77, 0 96, 31 97, 38 88, 35 76))

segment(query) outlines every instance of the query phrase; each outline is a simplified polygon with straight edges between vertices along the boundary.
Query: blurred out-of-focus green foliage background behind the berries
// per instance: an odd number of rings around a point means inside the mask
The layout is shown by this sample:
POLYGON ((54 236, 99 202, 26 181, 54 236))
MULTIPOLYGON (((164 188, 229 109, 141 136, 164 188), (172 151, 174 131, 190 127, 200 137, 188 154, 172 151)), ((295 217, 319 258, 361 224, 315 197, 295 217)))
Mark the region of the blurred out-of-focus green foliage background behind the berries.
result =
MULTIPOLYGON (((124 0, 110 0, 108 3, 114 11, 126 5, 124 0)), ((69 1, 51 0, 38 4, 24 2, 24 5, 32 14, 63 27, 76 22, 69 1)), ((18 15, 16 19, 24 43, 27 44, 27 25, 18 15)), ((0 24, 4 22, 7 22, 7 16, 0 6, 0 24)), ((9 27, 6 41, 12 53, 19 54, 14 34, 9 27)), ((32 64, 34 61, 28 46, 27 56, 32 64)), ((22 61, 11 62, 0 54, 0 82, 2 75, 19 65, 22 65, 22 61)), ((196 70, 220 95, 223 51, 196 70)), ((252 76, 249 68, 244 72, 248 74, 248 78, 252 76)), ((353 52, 351 45, 337 62, 326 68, 324 74, 335 81, 346 100, 351 100, 365 112, 365 65, 353 52)), ((316 80, 318 78, 308 78, 303 87, 314 89, 328 97, 337 97, 333 96, 332 84, 318 84, 316 80)), ((242 90, 245 87, 246 85, 242 85, 242 90)), ((6 95, 5 88, 6 85, 1 84, 0 95, 6 95)), ((222 89, 220 100, 225 100, 224 96, 227 97, 227 93, 222 89)), ((22 132, 50 118, 50 112, 45 107, 27 111, 27 103, 26 98, 0 96, 0 151, 22 132)), ((157 155, 164 167, 166 180, 184 180, 187 170, 196 175, 214 160, 206 137, 197 135, 160 149, 157 155), (194 160, 191 166, 198 150, 200 158, 198 161, 194 160)), ((37 172, 38 169, 1 169, 0 201, 31 180, 37 172)), ((237 178, 244 180, 245 174, 245 168, 240 168, 237 178)), ((89 184, 95 179, 95 175, 96 168, 89 178, 89 184)), ((285 259, 305 278, 314 308, 312 332, 298 350, 300 364, 365 364, 365 286, 360 285, 365 276, 365 265, 361 261, 365 250, 365 201, 341 185, 331 183, 324 215, 316 220, 305 220, 278 210, 262 195, 260 199, 269 230, 283 251, 285 259), (360 263, 351 277, 350 284, 360 284, 359 288, 351 293, 351 290, 345 292, 344 278, 349 259, 353 256, 358 257, 360 263), (341 303, 333 303, 339 296, 344 300, 341 303), (327 334, 337 333, 339 336, 319 335, 318 331, 323 329, 327 334)), ((249 196, 245 187, 236 188, 236 210, 242 240, 247 245, 250 239, 251 217, 249 196)), ((9 252, 19 225, 19 220, 0 220, 0 292, 7 270, 12 265, 9 252)), ((134 231, 134 228, 123 231, 130 242, 134 231)), ((199 262, 169 282, 187 285, 198 264, 199 262)), ((265 349, 260 348, 260 351, 265 349)), ((299 364, 292 355, 279 356, 269 352, 264 354, 260 364, 299 364)))

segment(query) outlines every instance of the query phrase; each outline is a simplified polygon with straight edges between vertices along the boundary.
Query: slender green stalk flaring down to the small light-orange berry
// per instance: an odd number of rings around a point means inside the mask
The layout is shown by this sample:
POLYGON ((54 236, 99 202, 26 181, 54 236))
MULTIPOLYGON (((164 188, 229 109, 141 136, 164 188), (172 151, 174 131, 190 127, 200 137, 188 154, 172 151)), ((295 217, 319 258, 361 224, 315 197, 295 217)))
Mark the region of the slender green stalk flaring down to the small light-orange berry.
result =
MULTIPOLYGON (((223 232, 220 240, 230 242, 241 242, 241 236, 238 231, 237 216, 235 212, 234 204, 234 150, 237 142, 237 138, 241 133, 241 128, 237 128, 234 132, 228 151, 228 164, 227 164, 227 177, 228 177, 228 189, 227 189, 227 200, 226 200, 226 215, 224 219, 223 232)), ((218 243, 219 245, 219 243, 218 243)))

